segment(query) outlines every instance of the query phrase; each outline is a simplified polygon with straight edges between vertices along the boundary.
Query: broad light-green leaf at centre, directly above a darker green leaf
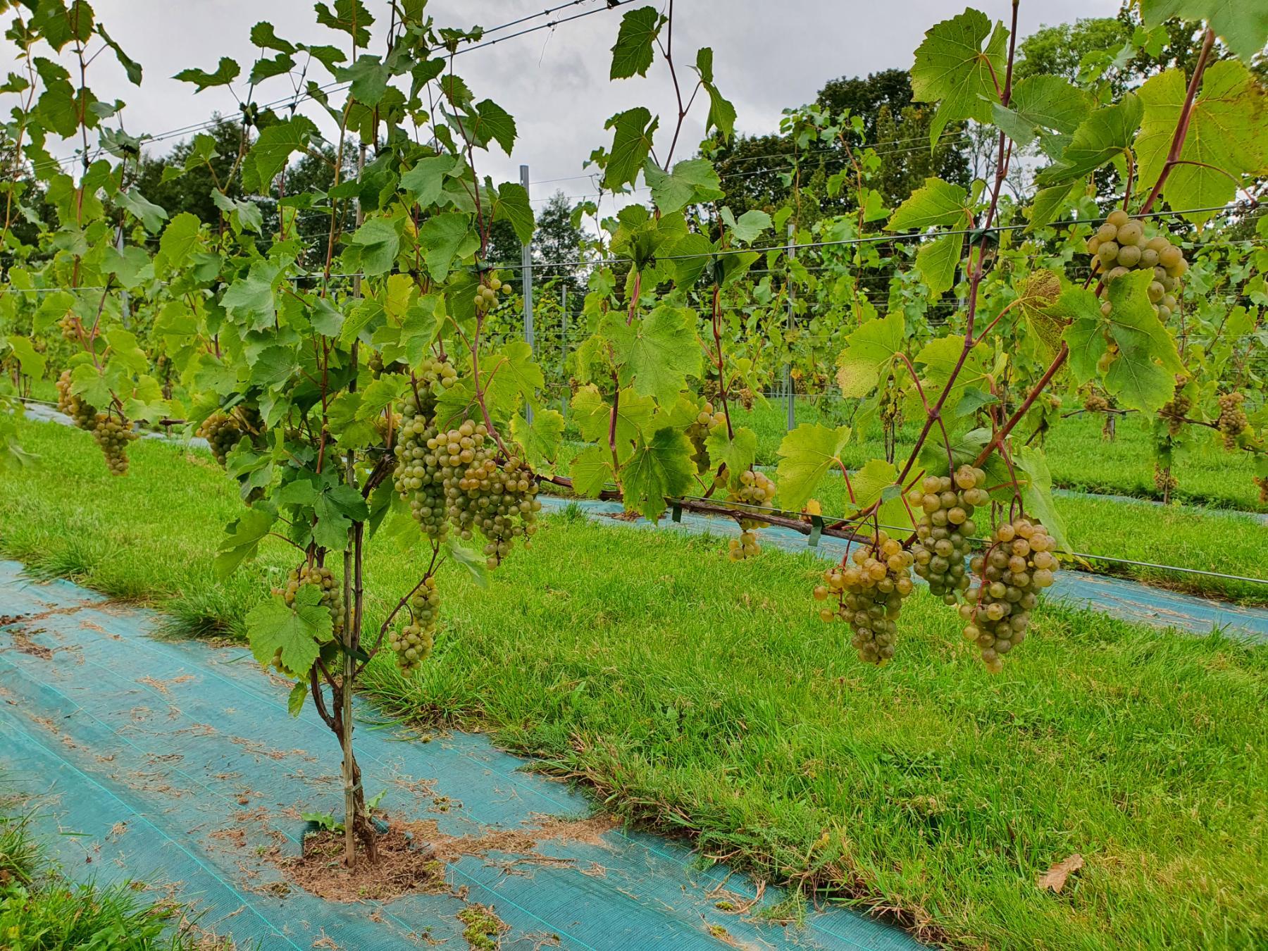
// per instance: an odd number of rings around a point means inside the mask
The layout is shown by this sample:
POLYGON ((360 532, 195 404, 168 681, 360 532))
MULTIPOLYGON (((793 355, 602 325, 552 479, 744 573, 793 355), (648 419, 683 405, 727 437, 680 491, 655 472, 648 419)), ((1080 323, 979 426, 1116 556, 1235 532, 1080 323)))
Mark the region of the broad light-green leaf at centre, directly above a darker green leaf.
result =
POLYGON ((687 387, 687 377, 700 375, 701 349, 690 311, 662 304, 629 325, 610 312, 600 332, 612 347, 621 385, 639 396, 668 404, 687 387))

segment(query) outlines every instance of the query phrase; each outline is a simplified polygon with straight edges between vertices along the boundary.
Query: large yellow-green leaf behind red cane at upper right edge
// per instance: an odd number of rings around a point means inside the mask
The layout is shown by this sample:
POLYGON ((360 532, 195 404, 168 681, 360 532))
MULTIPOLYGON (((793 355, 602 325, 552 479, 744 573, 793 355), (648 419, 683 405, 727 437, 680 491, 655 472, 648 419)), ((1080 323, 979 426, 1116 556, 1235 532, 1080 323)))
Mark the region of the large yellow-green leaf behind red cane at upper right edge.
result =
MULTIPOLYGON (((1144 120, 1136 139, 1137 183, 1153 188, 1170 151, 1184 109, 1188 82, 1183 70, 1167 70, 1140 87, 1144 120)), ((1163 185, 1174 209, 1219 208, 1236 195, 1238 180, 1268 169, 1268 108, 1250 71, 1236 60, 1212 63, 1193 100, 1181 164, 1163 185)), ((1201 223, 1216 212, 1184 216, 1201 223)))

